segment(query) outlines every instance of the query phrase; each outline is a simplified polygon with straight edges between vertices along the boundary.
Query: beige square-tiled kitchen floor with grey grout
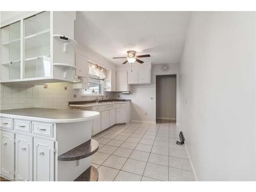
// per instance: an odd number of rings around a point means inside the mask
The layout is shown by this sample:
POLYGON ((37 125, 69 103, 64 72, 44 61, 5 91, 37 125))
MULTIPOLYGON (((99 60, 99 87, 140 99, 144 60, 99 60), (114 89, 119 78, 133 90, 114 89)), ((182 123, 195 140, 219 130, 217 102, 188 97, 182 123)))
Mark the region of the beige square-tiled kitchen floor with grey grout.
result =
POLYGON ((157 124, 115 125, 96 135, 99 150, 92 165, 99 181, 194 181, 179 128, 169 120, 157 124))

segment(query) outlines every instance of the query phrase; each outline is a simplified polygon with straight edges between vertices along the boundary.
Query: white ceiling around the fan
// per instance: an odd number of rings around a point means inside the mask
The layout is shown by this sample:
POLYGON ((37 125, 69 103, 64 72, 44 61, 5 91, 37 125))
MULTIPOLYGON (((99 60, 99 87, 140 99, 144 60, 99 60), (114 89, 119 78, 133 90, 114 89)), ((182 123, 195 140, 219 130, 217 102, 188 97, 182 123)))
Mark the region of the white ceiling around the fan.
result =
POLYGON ((77 12, 75 38, 120 65, 127 50, 154 65, 179 62, 190 12, 77 12), (77 31, 76 31, 77 30, 77 31))

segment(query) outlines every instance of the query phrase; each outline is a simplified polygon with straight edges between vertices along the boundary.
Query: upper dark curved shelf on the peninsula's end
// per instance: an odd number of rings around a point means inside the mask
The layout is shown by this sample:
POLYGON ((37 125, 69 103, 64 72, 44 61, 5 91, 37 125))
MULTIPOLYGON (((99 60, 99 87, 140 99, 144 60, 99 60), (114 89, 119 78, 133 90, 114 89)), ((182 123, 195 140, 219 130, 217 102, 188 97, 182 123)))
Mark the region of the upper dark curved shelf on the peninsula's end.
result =
POLYGON ((72 150, 58 156, 59 161, 75 161, 93 155, 98 151, 99 143, 94 139, 84 142, 72 150))

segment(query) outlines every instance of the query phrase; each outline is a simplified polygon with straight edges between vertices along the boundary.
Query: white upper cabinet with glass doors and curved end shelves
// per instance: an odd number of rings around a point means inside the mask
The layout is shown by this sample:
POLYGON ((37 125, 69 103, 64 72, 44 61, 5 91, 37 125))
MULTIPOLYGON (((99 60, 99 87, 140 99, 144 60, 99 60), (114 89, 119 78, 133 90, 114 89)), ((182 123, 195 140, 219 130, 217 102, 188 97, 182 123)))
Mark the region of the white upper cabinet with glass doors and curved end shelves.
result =
POLYGON ((1 82, 73 81, 74 20, 75 12, 44 11, 1 26, 1 82))

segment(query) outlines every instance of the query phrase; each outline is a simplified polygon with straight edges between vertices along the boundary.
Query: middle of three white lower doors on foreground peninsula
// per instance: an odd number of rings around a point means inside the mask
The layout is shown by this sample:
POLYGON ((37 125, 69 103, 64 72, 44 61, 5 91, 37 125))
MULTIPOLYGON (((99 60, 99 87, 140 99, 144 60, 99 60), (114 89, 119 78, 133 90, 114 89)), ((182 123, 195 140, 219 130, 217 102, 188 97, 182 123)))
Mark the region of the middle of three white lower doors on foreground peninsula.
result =
POLYGON ((33 181, 33 140, 31 136, 15 134, 16 180, 33 181))

